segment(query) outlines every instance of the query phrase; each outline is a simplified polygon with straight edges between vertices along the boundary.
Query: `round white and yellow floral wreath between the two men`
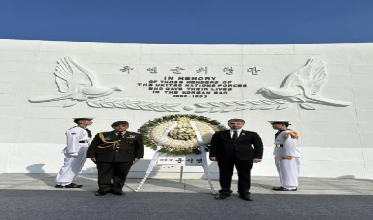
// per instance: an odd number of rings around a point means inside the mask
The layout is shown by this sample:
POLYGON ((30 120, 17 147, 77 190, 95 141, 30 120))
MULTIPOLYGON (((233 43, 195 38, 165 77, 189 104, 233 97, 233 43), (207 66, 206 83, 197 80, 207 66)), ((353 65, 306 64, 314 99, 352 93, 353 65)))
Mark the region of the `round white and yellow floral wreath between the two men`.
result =
POLYGON ((210 147, 213 134, 217 131, 226 130, 220 122, 208 117, 195 114, 174 114, 149 120, 143 124, 137 132, 143 135, 144 144, 153 150, 157 149, 158 141, 174 121, 177 126, 173 128, 165 137, 162 148, 159 152, 168 154, 200 154, 200 146, 197 134, 190 126, 189 121, 193 121, 201 134, 206 150, 210 147))

